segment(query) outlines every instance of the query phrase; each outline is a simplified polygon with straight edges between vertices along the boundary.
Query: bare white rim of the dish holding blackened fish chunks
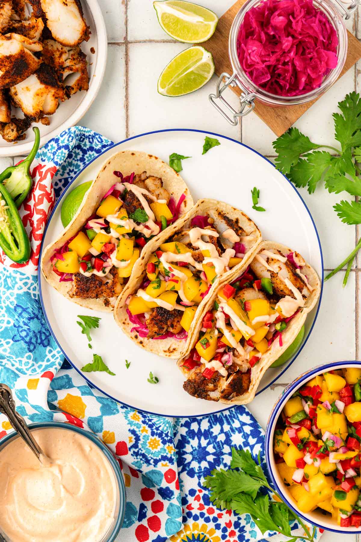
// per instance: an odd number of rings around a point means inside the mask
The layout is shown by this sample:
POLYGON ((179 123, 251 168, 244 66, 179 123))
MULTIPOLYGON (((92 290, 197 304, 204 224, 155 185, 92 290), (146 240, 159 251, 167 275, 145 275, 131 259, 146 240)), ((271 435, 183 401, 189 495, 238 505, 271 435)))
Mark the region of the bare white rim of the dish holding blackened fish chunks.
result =
MULTIPOLYGON (((63 130, 74 126, 88 111, 95 96, 99 92, 104 70, 107 63, 107 31, 103 15, 97 0, 81 0, 84 18, 90 27, 90 39, 81 44, 83 53, 87 55, 89 72, 89 89, 87 92, 77 92, 70 100, 61 102, 54 115, 49 115, 50 124, 44 126, 41 122, 33 124, 40 130, 40 146, 55 137, 63 130), (90 53, 91 48, 95 53, 90 53)), ((0 136, 0 157, 24 156, 29 154, 34 143, 34 132, 31 127, 23 141, 8 143, 0 136)))

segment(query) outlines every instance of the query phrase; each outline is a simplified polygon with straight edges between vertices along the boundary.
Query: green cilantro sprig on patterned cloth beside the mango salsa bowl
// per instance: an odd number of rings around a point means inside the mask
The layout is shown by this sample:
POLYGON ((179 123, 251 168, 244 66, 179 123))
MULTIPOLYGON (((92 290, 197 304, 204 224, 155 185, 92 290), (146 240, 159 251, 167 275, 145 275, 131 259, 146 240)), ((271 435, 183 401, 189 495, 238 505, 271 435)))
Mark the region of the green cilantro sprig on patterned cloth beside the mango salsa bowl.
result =
POLYGON ((304 522, 281 500, 268 484, 260 463, 260 454, 256 463, 250 451, 232 448, 231 467, 227 470, 212 470, 211 475, 205 478, 204 486, 211 490, 211 501, 221 510, 250 514, 262 534, 266 531, 277 531, 290 538, 290 542, 296 542, 299 538, 312 542, 316 527, 311 533, 304 522), (265 488, 267 493, 262 488, 265 488), (270 495, 277 501, 271 500, 270 495), (293 519, 296 519, 305 531, 301 537, 291 534, 290 521, 293 519))

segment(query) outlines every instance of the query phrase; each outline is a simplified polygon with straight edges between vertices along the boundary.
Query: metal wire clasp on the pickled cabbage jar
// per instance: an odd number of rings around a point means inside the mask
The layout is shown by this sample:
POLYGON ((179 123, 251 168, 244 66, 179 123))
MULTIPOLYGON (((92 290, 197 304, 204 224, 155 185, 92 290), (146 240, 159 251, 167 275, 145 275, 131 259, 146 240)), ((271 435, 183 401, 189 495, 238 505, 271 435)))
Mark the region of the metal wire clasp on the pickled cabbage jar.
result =
POLYGON ((209 94, 208 96, 209 101, 211 104, 218 109, 219 113, 224 117, 229 124, 232 124, 232 126, 237 126, 238 124, 238 117, 245 117, 245 115, 248 115, 248 113, 251 113, 254 109, 254 93, 248 93, 246 92, 239 84, 236 74, 234 73, 232 76, 229 75, 227 72, 222 73, 217 81, 216 85, 216 92, 215 94, 209 94), (223 78, 225 78, 225 83, 223 83, 223 78), (235 109, 231 106, 231 104, 228 104, 227 100, 222 96, 222 92, 226 90, 227 87, 235 87, 238 86, 242 93, 240 95, 239 103, 240 103, 240 109, 239 111, 235 111, 235 109), (220 100, 222 104, 232 113, 232 117, 228 116, 227 112, 222 109, 215 100, 220 100))

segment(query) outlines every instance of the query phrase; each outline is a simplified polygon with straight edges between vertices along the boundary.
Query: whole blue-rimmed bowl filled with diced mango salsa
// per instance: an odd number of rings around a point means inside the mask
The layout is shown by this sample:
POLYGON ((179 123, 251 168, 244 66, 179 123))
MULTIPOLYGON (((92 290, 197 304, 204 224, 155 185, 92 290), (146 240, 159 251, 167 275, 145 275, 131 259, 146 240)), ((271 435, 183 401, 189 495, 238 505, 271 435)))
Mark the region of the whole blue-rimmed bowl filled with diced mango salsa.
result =
POLYGON ((361 532, 361 362, 322 365, 288 385, 265 443, 275 488, 296 514, 361 532))

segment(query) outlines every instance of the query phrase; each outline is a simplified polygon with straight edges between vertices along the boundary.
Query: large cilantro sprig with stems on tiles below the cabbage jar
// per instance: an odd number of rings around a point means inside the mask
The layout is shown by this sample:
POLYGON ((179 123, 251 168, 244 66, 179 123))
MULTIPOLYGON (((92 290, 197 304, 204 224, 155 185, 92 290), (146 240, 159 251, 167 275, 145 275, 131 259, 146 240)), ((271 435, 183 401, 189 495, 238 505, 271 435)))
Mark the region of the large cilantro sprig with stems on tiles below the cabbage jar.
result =
MULTIPOLYGON (((338 104, 340 113, 333 113, 334 137, 340 149, 329 145, 313 143, 307 135, 297 128, 273 141, 278 156, 277 168, 284 173, 298 188, 305 188, 310 194, 317 184, 324 182, 330 193, 346 192, 352 197, 361 196, 361 99, 359 94, 351 92, 338 104), (318 150, 329 149, 331 152, 318 150)), ((361 201, 342 199, 333 205, 337 216, 345 224, 361 224, 361 201)), ((351 254, 345 258, 325 280, 329 280, 347 265, 343 286, 349 278, 352 262, 361 248, 361 237, 351 254)))

